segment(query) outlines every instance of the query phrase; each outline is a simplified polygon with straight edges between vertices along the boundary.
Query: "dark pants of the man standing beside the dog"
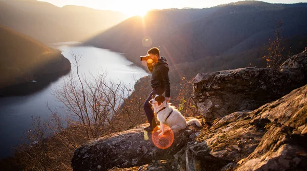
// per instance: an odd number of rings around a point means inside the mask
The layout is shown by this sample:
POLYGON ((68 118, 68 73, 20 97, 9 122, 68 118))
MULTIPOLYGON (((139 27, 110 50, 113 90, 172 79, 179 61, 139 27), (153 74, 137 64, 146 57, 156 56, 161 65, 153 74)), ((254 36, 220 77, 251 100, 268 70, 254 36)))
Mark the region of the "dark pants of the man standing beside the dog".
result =
POLYGON ((156 121, 153 120, 155 115, 153 114, 153 111, 151 109, 151 104, 149 103, 149 101, 151 100, 151 96, 153 94, 163 94, 164 91, 165 91, 165 89, 163 87, 153 88, 151 93, 149 94, 149 96, 147 97, 147 99, 144 103, 144 111, 145 111, 145 114, 147 116, 148 123, 150 124, 150 126, 156 127, 156 121), (153 122, 155 122, 155 123, 153 123, 153 122))

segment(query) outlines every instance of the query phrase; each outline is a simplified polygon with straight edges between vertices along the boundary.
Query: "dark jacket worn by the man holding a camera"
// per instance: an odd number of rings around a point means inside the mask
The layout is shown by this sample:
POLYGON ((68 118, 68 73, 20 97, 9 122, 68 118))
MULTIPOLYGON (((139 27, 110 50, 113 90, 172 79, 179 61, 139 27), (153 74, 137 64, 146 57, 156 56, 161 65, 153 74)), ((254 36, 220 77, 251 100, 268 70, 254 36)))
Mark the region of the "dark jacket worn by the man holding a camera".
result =
POLYGON ((158 60, 158 63, 153 67, 152 76, 151 76, 151 87, 163 87, 165 88, 165 96, 170 97, 170 83, 168 78, 168 64, 166 63, 166 59, 161 57, 162 59, 158 60))

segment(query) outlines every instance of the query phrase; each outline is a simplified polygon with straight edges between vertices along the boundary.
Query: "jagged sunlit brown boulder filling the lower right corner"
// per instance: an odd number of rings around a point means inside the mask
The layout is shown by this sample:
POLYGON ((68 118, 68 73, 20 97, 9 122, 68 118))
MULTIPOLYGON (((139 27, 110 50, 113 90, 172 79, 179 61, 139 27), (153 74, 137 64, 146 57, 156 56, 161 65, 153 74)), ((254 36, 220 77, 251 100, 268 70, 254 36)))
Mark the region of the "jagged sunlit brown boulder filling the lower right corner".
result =
POLYGON ((306 170, 306 94, 307 85, 215 121, 177 154, 182 170, 306 170))

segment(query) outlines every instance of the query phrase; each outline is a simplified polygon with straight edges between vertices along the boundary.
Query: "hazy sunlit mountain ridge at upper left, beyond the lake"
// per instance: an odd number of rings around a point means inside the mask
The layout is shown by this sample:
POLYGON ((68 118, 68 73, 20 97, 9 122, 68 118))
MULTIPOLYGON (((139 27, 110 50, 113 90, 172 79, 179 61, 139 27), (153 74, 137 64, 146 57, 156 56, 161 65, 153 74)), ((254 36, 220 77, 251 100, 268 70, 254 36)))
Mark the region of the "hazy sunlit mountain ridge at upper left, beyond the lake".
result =
POLYGON ((1 1, 0 25, 44 43, 57 43, 82 41, 127 18, 120 12, 75 7, 60 8, 38 1, 1 1))

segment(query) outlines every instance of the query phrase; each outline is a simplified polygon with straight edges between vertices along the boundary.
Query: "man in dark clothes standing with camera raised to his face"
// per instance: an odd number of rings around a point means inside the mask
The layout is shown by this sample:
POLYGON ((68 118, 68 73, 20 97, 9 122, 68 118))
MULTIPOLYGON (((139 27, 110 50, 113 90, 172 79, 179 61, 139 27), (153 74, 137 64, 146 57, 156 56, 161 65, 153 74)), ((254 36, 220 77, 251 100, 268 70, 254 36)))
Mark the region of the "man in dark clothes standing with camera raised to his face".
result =
POLYGON ((144 103, 144 111, 146 113, 148 123, 150 124, 148 127, 144 128, 144 130, 151 132, 154 128, 157 127, 157 123, 154 119, 155 115, 153 114, 149 100, 151 99, 152 95, 163 94, 165 91, 165 100, 168 103, 170 100, 170 83, 168 78, 168 64, 166 63, 166 59, 164 57, 160 57, 159 49, 157 47, 151 48, 147 52, 146 56, 152 59, 149 60, 150 62, 154 62, 150 81, 151 87, 153 89, 144 103))

